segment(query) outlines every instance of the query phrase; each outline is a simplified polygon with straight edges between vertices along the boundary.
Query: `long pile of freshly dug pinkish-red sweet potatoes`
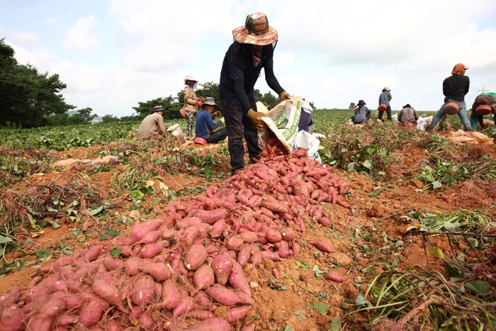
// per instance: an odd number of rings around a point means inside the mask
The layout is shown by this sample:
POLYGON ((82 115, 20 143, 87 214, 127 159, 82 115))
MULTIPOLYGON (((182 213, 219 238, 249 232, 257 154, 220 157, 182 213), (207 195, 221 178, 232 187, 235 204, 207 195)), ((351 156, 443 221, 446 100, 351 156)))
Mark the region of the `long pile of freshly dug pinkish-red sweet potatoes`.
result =
POLYGON ((230 330, 254 303, 244 267, 298 255, 309 221, 330 224, 322 203, 349 208, 346 191, 306 150, 268 157, 128 237, 47 264, 0 296, 0 330, 230 330))

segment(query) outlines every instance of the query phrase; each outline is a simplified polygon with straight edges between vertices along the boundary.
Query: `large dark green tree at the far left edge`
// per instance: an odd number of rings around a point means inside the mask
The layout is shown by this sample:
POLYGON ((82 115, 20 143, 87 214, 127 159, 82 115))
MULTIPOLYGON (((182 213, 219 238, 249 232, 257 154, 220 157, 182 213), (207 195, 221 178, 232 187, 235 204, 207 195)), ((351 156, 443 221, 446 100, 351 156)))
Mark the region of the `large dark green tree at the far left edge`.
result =
POLYGON ((75 106, 60 94, 67 87, 58 74, 40 74, 32 64, 18 64, 12 47, 0 40, 0 125, 16 123, 23 128, 47 125, 48 116, 75 106))

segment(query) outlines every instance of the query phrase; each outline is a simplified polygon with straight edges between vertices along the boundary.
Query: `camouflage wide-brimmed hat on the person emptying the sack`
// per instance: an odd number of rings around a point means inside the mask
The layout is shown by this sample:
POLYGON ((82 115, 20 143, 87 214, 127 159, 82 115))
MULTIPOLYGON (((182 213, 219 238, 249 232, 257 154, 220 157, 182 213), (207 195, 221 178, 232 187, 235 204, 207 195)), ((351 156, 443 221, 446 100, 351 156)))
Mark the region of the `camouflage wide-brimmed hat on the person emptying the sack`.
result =
POLYGON ((269 20, 264 13, 249 14, 244 26, 232 30, 232 35, 238 43, 260 46, 274 43, 278 38, 276 29, 269 26, 269 20))

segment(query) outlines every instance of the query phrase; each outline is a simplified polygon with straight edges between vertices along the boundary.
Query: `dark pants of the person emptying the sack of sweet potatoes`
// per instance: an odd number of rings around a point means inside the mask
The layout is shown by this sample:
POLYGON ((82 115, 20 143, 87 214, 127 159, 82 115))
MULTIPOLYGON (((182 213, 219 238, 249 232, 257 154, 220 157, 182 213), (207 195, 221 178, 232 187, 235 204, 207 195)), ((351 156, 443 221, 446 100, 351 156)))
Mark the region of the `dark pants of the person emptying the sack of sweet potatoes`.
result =
MULTIPOLYGON (((249 99, 254 111, 257 111, 255 98, 249 99)), ((241 103, 236 100, 220 99, 225 118, 227 130, 229 154, 231 156, 231 172, 244 168, 244 145, 243 137, 247 142, 249 159, 259 159, 261 148, 259 147, 258 130, 246 113, 243 113, 241 103)))

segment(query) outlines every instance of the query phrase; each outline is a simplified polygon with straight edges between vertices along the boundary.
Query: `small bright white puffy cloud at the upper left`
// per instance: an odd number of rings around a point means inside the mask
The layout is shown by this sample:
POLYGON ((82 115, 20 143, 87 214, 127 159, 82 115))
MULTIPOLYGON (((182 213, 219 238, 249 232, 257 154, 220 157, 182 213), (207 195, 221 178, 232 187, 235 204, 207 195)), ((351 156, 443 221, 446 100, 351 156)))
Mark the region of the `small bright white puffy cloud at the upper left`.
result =
POLYGON ((69 28, 62 44, 73 52, 89 52, 94 46, 100 45, 96 33, 91 32, 97 26, 98 22, 93 15, 79 18, 76 25, 69 28))

